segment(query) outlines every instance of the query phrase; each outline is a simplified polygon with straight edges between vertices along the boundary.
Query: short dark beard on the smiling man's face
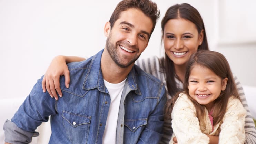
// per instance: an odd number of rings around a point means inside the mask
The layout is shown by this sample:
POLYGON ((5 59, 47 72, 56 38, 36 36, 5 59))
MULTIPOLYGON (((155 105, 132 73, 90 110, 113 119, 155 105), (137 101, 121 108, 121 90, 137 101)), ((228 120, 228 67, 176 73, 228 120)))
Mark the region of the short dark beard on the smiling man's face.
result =
MULTIPOLYGON (((108 50, 108 53, 110 55, 110 57, 112 58, 112 60, 116 63, 116 65, 118 65, 121 68, 127 68, 128 66, 130 66, 131 64, 133 64, 140 55, 136 55, 134 58, 130 59, 129 62, 127 64, 123 64, 122 61, 124 61, 124 59, 120 58, 119 53, 118 53, 118 43, 121 42, 117 42, 116 45, 112 44, 110 42, 111 39, 111 33, 109 35, 109 37, 107 38, 106 41, 106 48, 108 50)), ((127 45, 127 44, 126 44, 127 45)))

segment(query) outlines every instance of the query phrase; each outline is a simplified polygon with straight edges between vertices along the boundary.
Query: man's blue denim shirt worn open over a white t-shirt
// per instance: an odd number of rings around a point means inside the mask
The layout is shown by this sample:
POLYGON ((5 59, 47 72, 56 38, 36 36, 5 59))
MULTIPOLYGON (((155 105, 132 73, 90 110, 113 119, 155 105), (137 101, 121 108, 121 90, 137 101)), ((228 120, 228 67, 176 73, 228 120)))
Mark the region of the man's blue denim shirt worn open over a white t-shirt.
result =
MULTIPOLYGON (((61 76, 63 97, 58 101, 43 93, 42 78, 38 80, 11 119, 19 128, 8 120, 4 124, 6 142, 28 143, 31 136, 38 135, 35 129, 51 115, 50 144, 101 144, 111 102, 100 67, 102 52, 68 64, 70 86, 65 87, 61 76)), ((165 103, 163 83, 134 65, 122 92, 116 143, 157 144, 165 103)))

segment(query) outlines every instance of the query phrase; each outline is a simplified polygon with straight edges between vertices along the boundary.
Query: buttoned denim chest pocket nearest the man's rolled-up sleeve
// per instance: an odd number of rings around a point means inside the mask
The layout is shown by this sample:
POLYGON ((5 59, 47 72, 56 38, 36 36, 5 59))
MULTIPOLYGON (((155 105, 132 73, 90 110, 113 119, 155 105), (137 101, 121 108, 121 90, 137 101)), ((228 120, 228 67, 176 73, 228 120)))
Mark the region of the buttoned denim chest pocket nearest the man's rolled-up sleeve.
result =
POLYGON ((91 116, 63 110, 63 126, 73 144, 87 143, 91 116))

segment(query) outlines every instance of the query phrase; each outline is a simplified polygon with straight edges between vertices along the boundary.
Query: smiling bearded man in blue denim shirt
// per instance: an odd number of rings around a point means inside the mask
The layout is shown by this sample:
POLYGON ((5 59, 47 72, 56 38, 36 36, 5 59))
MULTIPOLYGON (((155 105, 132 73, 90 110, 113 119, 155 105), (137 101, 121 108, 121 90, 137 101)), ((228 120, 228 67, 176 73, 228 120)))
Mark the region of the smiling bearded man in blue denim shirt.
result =
POLYGON ((63 97, 43 93, 38 80, 11 121, 6 143, 29 143, 35 129, 51 115, 52 144, 158 143, 163 126, 165 88, 134 62, 145 50, 159 11, 150 0, 121 1, 105 24, 103 50, 68 64, 69 88, 63 97))

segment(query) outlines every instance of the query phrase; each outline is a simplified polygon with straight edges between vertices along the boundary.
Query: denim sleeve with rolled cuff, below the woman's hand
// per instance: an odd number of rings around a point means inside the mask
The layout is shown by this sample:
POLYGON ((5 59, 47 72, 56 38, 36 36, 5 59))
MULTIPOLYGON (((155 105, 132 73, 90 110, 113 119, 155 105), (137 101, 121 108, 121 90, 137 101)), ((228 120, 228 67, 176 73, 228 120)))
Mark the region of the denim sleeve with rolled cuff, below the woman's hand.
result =
POLYGON ((36 128, 42 122, 47 122, 50 115, 56 114, 56 102, 47 92, 43 93, 41 81, 42 78, 37 81, 11 121, 5 122, 6 142, 29 143, 32 136, 39 135, 35 132, 36 128))

